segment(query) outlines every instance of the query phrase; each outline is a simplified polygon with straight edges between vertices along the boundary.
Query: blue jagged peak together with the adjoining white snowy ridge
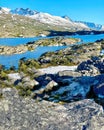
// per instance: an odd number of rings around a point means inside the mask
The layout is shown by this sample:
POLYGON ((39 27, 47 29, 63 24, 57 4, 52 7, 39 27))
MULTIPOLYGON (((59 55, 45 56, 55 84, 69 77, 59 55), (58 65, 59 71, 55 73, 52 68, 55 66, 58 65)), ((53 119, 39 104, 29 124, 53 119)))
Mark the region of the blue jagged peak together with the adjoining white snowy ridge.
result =
POLYGON ((63 26, 66 29, 70 27, 70 29, 73 30, 89 30, 89 27, 87 27, 85 24, 74 22, 70 18, 53 16, 48 13, 32 11, 28 8, 16 8, 15 10, 11 10, 10 13, 27 16, 41 23, 47 23, 53 26, 63 26))

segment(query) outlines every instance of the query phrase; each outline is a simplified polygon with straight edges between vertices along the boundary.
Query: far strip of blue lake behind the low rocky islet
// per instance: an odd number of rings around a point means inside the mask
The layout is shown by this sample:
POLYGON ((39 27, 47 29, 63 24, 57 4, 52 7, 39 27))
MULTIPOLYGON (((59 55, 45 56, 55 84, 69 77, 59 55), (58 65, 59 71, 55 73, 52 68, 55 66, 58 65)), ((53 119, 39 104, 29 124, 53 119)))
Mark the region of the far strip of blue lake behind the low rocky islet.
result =
MULTIPOLYGON (((82 42, 94 42, 96 40, 100 40, 104 38, 104 34, 98 35, 74 35, 74 36, 67 36, 73 38, 80 38, 82 42)), ((46 37, 47 38, 47 37, 46 37)), ((50 37, 48 37, 50 38, 50 37)), ((7 45, 7 46, 17 46, 20 44, 26 44, 27 42, 36 41, 38 39, 42 39, 42 37, 33 37, 33 38, 0 38, 0 45, 7 45)))

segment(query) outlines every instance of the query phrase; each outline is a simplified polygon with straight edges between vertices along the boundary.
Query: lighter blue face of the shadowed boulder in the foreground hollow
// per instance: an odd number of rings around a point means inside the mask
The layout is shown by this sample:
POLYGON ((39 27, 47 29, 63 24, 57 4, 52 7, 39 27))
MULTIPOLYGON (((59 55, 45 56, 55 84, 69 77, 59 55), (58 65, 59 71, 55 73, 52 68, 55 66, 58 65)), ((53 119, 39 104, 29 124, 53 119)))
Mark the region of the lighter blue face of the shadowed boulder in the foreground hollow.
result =
POLYGON ((58 98, 58 102, 70 102, 74 100, 84 99, 89 90, 90 85, 80 84, 79 82, 73 81, 72 83, 70 83, 70 85, 60 87, 58 90, 52 92, 51 96, 54 97, 53 100, 56 100, 56 98, 58 98))

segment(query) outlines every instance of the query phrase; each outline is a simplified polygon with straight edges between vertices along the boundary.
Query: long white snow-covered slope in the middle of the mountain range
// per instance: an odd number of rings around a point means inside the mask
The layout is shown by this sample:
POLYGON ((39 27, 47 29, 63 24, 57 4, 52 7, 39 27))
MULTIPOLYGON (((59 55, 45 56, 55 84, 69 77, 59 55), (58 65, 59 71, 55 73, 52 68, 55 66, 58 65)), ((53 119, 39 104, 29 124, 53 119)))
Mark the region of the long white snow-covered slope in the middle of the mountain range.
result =
POLYGON ((70 19, 62 18, 60 16, 53 16, 48 13, 35 13, 34 15, 29 16, 32 19, 38 20, 42 23, 47 23, 51 25, 57 25, 57 26, 64 26, 64 27, 71 27, 71 28, 83 28, 83 29, 89 29, 86 25, 83 23, 79 24, 76 22, 73 22, 70 19))

